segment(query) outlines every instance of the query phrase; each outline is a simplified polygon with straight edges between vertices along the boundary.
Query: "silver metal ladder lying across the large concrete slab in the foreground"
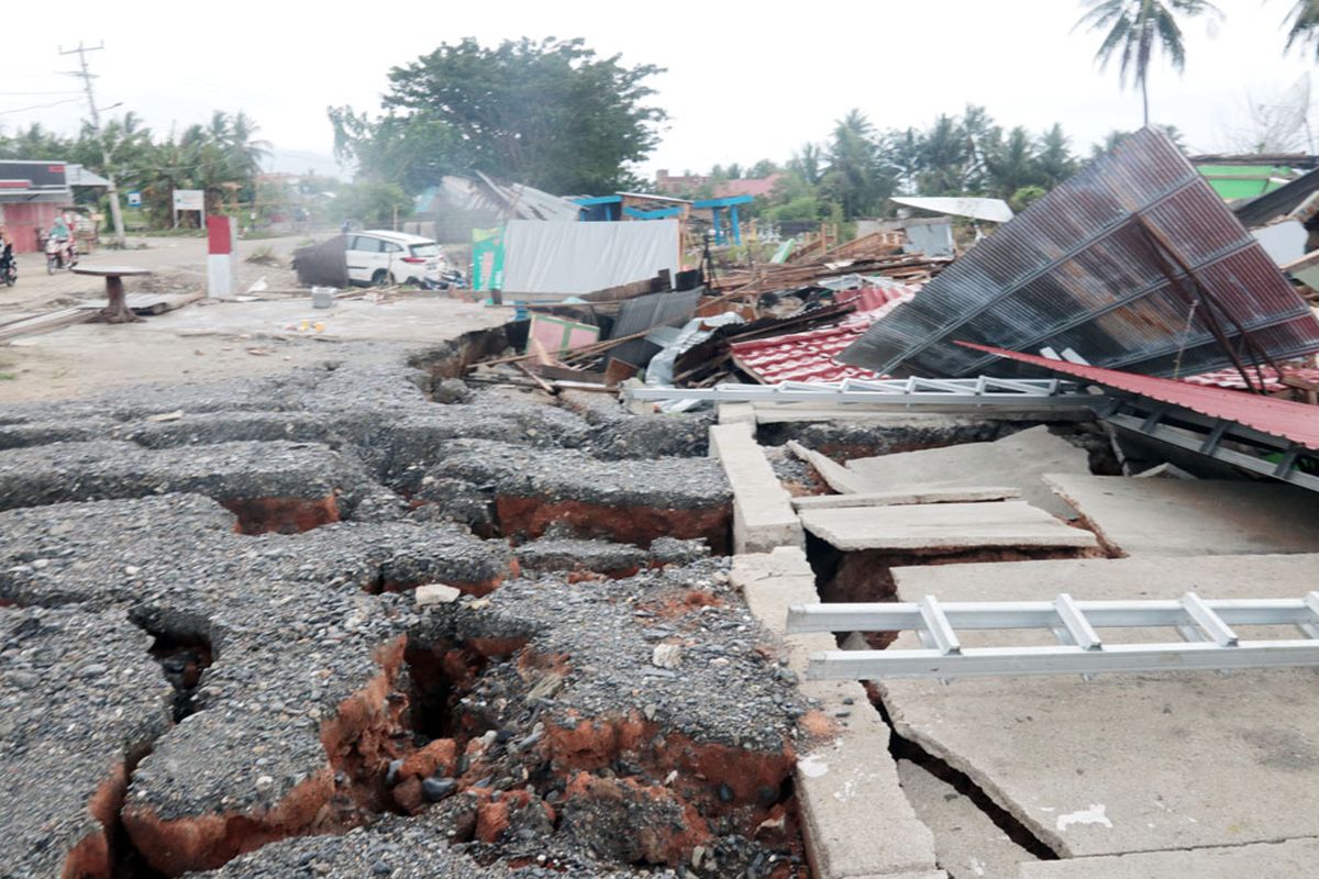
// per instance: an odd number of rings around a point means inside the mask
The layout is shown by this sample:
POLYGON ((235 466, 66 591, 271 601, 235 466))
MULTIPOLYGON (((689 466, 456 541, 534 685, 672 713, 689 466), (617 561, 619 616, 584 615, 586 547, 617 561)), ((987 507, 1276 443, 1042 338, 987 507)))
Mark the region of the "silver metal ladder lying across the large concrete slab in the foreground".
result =
POLYGON ((917 633, 922 650, 824 651, 811 656, 815 680, 881 680, 1097 672, 1319 666, 1319 592, 1303 598, 1206 601, 948 602, 794 605, 787 631, 917 633), (1241 640, 1232 625, 1295 626, 1303 638, 1241 640), (1182 642, 1108 644, 1097 629, 1173 627, 1182 642), (1046 629, 1057 647, 972 647, 964 630, 1046 629))

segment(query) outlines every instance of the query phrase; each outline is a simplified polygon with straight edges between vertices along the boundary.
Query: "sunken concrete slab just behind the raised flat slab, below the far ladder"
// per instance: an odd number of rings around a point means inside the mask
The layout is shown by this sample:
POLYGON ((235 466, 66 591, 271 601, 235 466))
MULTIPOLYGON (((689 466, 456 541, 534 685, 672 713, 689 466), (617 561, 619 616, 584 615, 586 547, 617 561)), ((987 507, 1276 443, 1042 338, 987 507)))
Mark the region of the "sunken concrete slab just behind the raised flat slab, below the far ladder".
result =
POLYGON ((1045 473, 1089 473, 1089 456, 1045 426, 993 443, 859 457, 847 469, 860 478, 857 492, 929 490, 1010 485, 1042 510, 1070 519, 1075 513, 1045 485, 1045 473))

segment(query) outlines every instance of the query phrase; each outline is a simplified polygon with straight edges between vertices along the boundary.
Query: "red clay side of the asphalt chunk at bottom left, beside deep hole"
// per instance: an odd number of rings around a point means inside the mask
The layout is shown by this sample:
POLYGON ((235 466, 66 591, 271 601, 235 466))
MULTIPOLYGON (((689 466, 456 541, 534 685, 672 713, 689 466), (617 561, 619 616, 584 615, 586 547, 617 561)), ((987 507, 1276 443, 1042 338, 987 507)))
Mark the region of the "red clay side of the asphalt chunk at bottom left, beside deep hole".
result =
POLYGON ((384 808, 385 770, 400 755, 394 733, 402 729, 405 700, 392 700, 404 659, 404 638, 377 648, 380 666, 363 689, 339 702, 321 725, 327 764, 272 809, 162 820, 154 809, 129 804, 124 812, 133 845, 156 870, 174 876, 189 870, 214 870, 269 842, 307 833, 334 833, 361 821, 361 812, 384 808), (335 787, 335 774, 350 779, 347 799, 335 787))

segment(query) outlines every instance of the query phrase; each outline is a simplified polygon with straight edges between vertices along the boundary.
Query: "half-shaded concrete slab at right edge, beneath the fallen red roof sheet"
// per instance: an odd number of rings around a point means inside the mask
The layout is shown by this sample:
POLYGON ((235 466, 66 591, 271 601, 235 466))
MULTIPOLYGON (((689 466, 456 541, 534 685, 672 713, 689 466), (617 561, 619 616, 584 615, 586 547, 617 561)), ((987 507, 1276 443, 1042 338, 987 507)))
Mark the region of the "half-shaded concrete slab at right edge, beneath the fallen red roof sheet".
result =
POLYGON ((1319 552, 1319 497, 1290 485, 1074 473, 1046 481, 1125 555, 1319 552))

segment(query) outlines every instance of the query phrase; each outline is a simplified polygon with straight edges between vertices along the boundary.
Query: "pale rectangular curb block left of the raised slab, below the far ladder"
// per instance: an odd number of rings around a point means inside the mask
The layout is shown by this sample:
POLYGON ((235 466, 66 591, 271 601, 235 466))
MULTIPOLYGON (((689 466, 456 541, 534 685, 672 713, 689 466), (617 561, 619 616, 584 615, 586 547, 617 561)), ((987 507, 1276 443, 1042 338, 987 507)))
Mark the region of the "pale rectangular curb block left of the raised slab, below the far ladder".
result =
POLYGON ((711 427, 710 456, 719 459, 733 490, 733 552, 806 548, 791 496, 774 476, 749 423, 711 427))

